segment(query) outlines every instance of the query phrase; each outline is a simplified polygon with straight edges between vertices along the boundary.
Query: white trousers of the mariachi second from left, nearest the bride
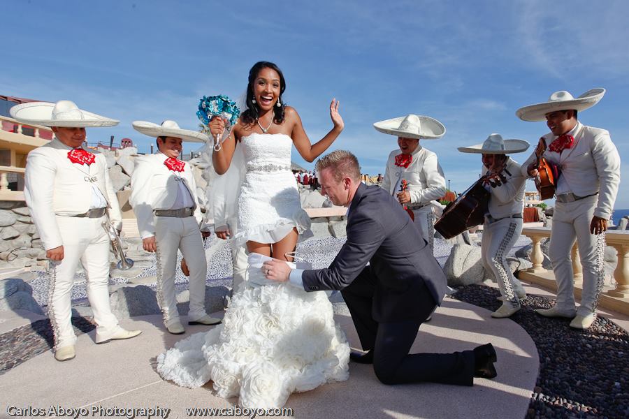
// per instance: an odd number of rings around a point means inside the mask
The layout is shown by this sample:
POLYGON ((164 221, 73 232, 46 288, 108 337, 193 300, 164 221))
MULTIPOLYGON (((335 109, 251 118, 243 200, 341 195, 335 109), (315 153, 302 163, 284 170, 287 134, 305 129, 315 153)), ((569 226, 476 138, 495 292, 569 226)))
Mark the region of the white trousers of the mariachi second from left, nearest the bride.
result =
POLYGON ((166 326, 179 321, 175 299, 175 267, 177 251, 181 250, 190 270, 189 321, 205 316, 205 277, 208 264, 201 231, 194 216, 178 218, 155 216, 155 241, 157 243, 157 302, 166 326))

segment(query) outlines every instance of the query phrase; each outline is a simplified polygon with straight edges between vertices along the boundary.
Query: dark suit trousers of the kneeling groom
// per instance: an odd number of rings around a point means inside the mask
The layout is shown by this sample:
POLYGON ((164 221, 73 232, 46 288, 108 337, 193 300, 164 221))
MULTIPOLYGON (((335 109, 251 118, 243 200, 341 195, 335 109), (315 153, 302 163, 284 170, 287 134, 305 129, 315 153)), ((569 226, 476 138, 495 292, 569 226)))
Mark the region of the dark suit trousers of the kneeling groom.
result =
POLYGON ((373 351, 373 369, 384 384, 430 381, 456 385, 472 385, 475 358, 473 351, 455 353, 409 354, 421 323, 437 304, 423 286, 417 301, 424 310, 418 318, 378 322, 372 316, 375 281, 367 266, 341 291, 358 332, 363 350, 373 351))

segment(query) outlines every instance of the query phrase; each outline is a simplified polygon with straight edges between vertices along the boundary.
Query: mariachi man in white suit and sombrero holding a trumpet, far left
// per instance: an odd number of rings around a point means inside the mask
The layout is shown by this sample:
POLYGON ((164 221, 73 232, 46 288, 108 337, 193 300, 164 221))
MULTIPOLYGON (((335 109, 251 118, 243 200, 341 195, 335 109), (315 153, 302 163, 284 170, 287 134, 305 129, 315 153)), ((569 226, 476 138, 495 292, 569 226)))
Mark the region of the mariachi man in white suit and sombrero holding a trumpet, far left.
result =
POLYGON ((71 101, 23 103, 10 113, 25 124, 50 126, 55 133, 55 139, 29 153, 24 174, 24 198, 50 260, 48 316, 55 359, 75 357, 71 291, 79 260, 87 271, 96 344, 140 335, 140 330, 121 328, 111 312, 108 223, 120 230, 122 216, 105 157, 83 148, 85 127, 118 122, 80 110, 71 101))

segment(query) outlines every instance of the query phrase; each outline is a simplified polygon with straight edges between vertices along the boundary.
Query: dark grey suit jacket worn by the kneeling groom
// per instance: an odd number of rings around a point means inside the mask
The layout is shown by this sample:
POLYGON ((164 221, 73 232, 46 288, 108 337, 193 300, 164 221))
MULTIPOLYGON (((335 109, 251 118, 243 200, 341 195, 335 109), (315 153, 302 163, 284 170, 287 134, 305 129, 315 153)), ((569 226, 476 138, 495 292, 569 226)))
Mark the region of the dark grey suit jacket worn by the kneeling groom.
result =
POLYGON ((360 184, 349 205, 347 242, 330 267, 305 270, 302 280, 306 291, 340 290, 364 269, 375 279, 372 315, 379 322, 425 316, 417 307, 422 290, 428 288, 436 304, 447 291, 431 247, 402 205, 379 186, 360 184))

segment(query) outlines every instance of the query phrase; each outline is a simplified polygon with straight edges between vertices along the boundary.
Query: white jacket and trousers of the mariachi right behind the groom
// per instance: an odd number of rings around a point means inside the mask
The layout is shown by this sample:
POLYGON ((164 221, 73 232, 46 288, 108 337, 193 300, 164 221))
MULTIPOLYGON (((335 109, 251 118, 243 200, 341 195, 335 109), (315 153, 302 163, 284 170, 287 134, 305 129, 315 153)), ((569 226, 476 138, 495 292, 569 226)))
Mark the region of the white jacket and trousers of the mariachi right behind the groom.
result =
POLYGON ((415 226, 424 240, 434 248, 435 216, 431 201, 441 198, 446 192, 443 170, 437 161, 437 154, 421 145, 412 152, 412 161, 407 168, 396 166, 396 156, 400 153, 400 149, 396 149, 389 154, 380 187, 396 196, 400 192, 401 180, 408 182, 410 204, 407 207, 415 215, 415 226))

